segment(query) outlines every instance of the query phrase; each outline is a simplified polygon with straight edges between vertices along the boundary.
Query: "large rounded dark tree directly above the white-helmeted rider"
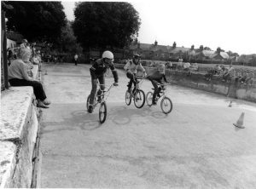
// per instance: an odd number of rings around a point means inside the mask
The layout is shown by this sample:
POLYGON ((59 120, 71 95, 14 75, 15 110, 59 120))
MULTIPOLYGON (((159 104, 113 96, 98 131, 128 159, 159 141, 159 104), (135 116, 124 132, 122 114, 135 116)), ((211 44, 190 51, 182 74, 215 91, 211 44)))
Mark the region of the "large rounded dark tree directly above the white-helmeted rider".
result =
POLYGON ((73 31, 84 49, 123 48, 137 37, 141 24, 130 3, 77 3, 74 15, 73 31))

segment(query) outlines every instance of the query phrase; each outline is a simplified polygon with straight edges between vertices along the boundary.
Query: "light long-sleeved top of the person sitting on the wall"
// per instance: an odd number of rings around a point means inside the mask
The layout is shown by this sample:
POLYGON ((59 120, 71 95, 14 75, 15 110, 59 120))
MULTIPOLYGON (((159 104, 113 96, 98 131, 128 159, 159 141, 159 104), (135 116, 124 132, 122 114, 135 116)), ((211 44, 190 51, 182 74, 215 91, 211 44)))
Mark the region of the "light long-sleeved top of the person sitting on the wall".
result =
POLYGON ((26 79, 27 81, 32 81, 32 77, 27 74, 27 65, 22 60, 14 60, 9 66, 8 79, 18 78, 26 79))

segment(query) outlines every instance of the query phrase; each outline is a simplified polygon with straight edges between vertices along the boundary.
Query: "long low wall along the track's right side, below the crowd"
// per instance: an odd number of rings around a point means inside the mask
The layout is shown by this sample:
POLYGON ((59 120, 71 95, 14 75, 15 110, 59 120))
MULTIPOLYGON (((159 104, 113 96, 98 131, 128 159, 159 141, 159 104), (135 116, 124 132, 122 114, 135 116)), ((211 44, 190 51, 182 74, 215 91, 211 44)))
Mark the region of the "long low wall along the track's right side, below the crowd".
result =
MULTIPOLYGON (((115 64, 115 66, 120 69, 124 68, 124 65, 120 64, 115 64)), ((145 66, 145 69, 150 75, 156 68, 145 66)), ((236 83, 234 79, 229 83, 223 83, 220 78, 213 76, 212 80, 208 82, 204 76, 199 72, 192 72, 192 75, 188 76, 187 72, 166 69, 166 77, 171 83, 256 102, 256 81, 253 81, 252 85, 242 85, 236 83)))

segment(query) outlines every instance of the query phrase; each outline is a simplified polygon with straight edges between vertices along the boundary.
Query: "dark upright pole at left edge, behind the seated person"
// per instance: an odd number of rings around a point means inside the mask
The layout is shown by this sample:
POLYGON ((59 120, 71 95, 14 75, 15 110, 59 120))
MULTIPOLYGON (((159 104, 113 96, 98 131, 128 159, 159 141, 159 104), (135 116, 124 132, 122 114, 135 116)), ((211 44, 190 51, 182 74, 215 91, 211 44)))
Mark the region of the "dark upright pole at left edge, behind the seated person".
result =
POLYGON ((2 11, 2 32, 3 32, 3 41, 2 48, 3 48, 3 83, 4 88, 9 89, 9 83, 8 83, 8 64, 7 64, 7 40, 6 40, 6 30, 5 30, 5 11, 2 11))

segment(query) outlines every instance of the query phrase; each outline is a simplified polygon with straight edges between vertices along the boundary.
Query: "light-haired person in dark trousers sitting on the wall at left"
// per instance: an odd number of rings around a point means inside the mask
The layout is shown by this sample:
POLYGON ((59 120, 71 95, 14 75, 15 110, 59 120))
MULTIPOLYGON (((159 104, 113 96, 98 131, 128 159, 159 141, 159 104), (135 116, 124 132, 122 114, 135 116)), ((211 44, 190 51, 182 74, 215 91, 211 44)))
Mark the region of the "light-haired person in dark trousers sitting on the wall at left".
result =
POLYGON ((31 52, 29 49, 20 48, 17 54, 17 60, 14 60, 9 66, 8 78, 12 86, 32 86, 38 107, 48 108, 49 100, 46 100, 43 85, 38 80, 29 77, 27 74, 26 61, 29 60, 31 52))

